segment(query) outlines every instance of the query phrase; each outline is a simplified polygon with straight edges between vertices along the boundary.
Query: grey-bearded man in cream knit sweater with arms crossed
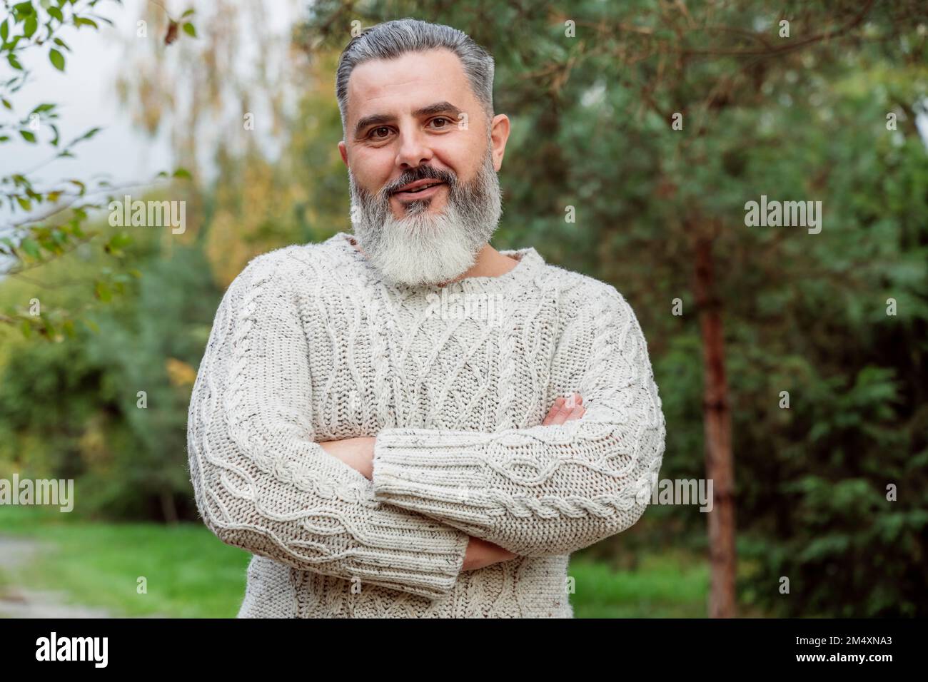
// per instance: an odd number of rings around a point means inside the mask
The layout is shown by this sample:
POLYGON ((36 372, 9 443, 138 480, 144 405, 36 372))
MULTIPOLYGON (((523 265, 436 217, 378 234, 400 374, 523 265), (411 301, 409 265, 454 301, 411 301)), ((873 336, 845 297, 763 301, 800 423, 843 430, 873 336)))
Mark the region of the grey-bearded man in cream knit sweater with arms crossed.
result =
POLYGON ((493 72, 447 26, 354 37, 354 237, 252 259, 219 306, 188 453, 203 521, 254 555, 239 617, 573 617, 570 554, 647 505, 664 416, 631 307, 488 243, 493 72))

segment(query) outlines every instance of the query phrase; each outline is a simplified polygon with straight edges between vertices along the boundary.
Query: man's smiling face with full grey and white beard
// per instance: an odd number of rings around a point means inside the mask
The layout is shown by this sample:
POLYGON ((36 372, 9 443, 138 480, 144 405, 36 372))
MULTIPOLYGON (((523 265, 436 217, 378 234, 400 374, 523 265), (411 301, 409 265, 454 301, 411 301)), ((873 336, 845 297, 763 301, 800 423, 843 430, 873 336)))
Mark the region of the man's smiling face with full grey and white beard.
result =
POLYGON ((384 275, 434 284, 474 263, 501 212, 496 172, 508 135, 509 120, 487 120, 449 51, 354 69, 339 148, 354 232, 384 275))

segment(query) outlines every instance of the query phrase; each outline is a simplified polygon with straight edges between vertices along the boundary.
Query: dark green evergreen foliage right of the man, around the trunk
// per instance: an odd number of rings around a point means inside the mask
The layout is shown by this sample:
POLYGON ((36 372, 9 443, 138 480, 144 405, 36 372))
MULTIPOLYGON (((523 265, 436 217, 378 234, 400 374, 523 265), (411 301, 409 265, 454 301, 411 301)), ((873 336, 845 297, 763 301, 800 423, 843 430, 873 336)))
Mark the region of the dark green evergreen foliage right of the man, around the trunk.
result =
MULTIPOLYGON (((512 122, 496 247, 533 244, 632 303, 667 418, 662 478, 704 476, 692 239, 713 239, 740 559, 752 566, 740 575, 742 607, 928 613, 923 6, 313 7, 304 43, 317 53, 343 46, 353 19, 415 16, 461 28, 493 54, 496 112, 512 122), (790 38, 779 35, 784 18, 790 38), (762 194, 820 200, 821 233, 747 227, 744 204, 762 194)), ((647 516, 680 528, 674 545, 704 534, 694 508, 647 516)))

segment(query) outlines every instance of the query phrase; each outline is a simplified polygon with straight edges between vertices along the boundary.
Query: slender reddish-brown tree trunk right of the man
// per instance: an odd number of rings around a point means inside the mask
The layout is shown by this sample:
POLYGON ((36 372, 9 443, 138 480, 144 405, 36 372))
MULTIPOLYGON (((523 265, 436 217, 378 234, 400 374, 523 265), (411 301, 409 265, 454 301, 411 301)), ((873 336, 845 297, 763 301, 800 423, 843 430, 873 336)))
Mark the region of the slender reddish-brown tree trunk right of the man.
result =
POLYGON ((725 337, 721 302, 715 297, 713 239, 695 239, 694 290, 702 332, 703 402, 705 422, 705 475, 713 482, 713 508, 709 512, 711 587, 709 617, 735 616, 735 507, 731 458, 731 411, 725 375, 725 337))

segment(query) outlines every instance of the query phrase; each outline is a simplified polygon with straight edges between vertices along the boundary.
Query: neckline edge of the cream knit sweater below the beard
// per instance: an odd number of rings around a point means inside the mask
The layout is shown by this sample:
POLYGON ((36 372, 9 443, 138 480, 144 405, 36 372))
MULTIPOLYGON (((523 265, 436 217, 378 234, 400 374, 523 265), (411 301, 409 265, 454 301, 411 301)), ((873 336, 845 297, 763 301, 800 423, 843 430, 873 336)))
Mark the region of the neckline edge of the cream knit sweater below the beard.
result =
POLYGON ((367 256, 354 248, 354 244, 357 243, 357 239, 354 238, 354 235, 348 234, 347 232, 339 232, 332 237, 330 241, 334 241, 339 251, 346 254, 354 263, 362 266, 365 276, 369 281, 377 282, 388 290, 404 293, 414 291, 421 291, 423 293, 441 293, 442 291, 447 291, 448 293, 470 293, 519 289, 534 281, 545 264, 541 254, 535 251, 534 247, 529 246, 522 249, 507 249, 499 252, 504 256, 512 256, 518 260, 518 263, 509 270, 509 272, 503 273, 502 275, 464 277, 463 279, 449 282, 445 284, 445 286, 436 284, 411 287, 406 284, 394 284, 385 280, 380 275, 380 271, 367 260, 367 256))

